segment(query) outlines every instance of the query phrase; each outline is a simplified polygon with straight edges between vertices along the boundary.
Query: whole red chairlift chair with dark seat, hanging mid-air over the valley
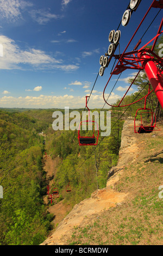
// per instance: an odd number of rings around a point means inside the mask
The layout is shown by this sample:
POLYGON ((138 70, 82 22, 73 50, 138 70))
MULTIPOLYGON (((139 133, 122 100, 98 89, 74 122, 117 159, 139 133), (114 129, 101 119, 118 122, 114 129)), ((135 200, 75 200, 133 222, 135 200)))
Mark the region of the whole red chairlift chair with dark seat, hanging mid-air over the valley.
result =
POLYGON ((83 146, 83 145, 97 145, 97 143, 98 143, 98 136, 99 136, 98 124, 97 124, 96 121, 91 121, 90 120, 90 109, 87 107, 87 97, 89 97, 89 96, 86 96, 86 108, 89 110, 89 118, 86 121, 80 122, 80 125, 79 125, 78 139, 79 139, 79 145, 80 146, 83 146), (95 136, 95 124, 97 125, 97 136, 95 136), (92 136, 81 136, 80 135, 80 127, 82 125, 93 125, 94 126, 92 136))

